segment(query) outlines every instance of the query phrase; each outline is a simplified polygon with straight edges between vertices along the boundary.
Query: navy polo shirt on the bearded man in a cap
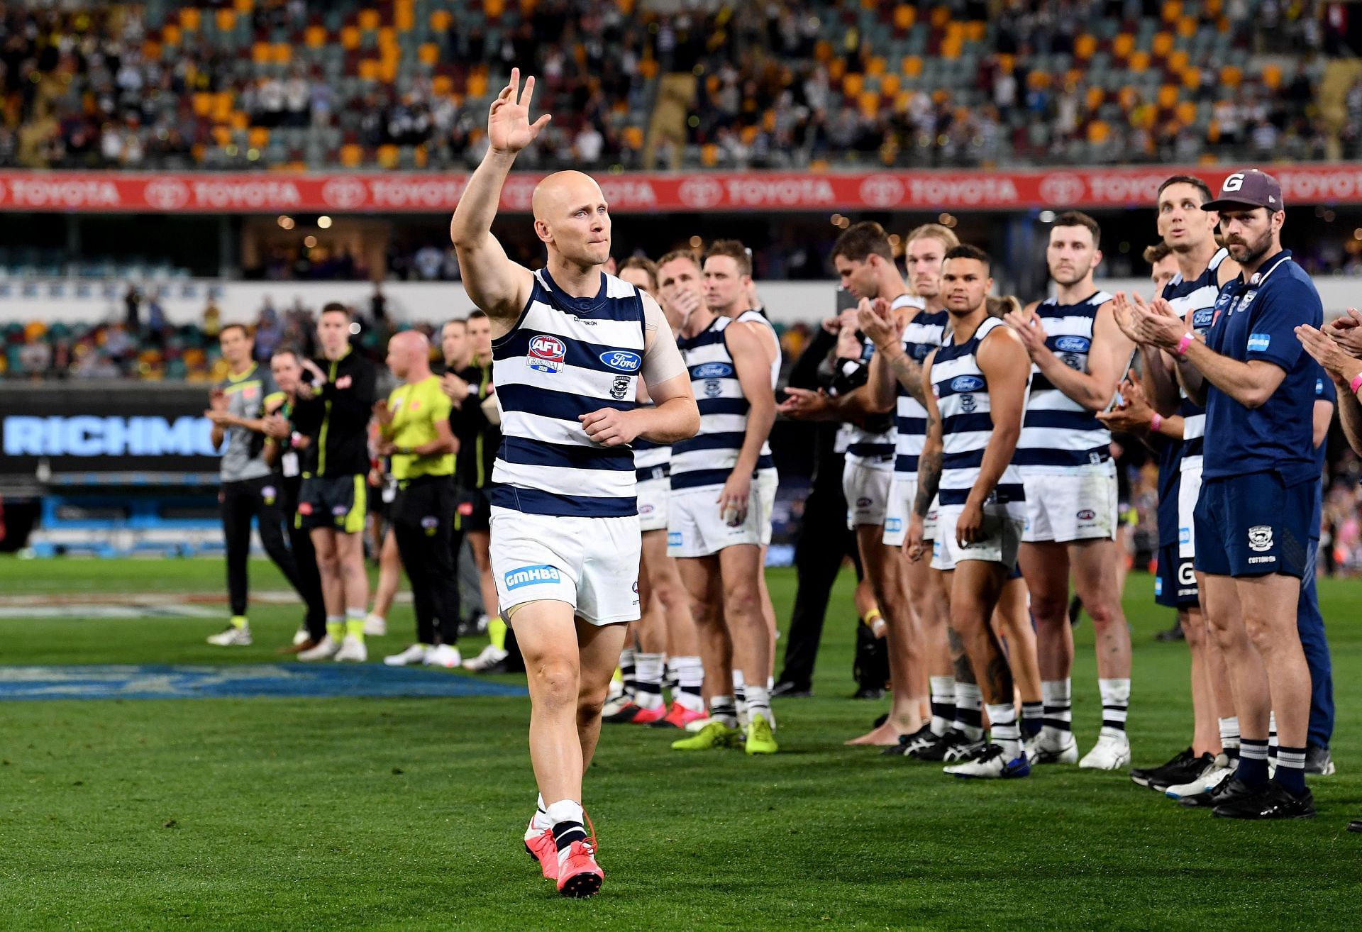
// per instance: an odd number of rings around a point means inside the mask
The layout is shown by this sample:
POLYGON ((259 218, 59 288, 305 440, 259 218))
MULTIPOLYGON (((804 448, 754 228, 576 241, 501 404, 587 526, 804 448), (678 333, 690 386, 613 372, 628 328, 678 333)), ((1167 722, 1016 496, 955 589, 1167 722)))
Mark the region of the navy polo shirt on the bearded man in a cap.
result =
POLYGON ((1290 486, 1318 477, 1313 425, 1320 368, 1301 346, 1295 328, 1323 322, 1320 293, 1287 249, 1268 259, 1248 282, 1239 277, 1220 289, 1207 345, 1239 362, 1272 362, 1286 377, 1256 409, 1208 383, 1204 478, 1276 473, 1290 486))

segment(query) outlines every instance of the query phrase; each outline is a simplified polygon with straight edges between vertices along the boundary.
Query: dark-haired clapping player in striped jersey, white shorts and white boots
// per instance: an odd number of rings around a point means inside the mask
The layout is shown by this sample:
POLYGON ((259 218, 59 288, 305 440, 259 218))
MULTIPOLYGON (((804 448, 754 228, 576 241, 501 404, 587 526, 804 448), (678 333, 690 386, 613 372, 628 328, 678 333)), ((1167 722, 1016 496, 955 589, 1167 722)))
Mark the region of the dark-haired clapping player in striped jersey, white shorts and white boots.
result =
POLYGON ((1045 721, 1027 745, 1031 763, 1073 763, 1073 632, 1069 574, 1096 635, 1102 732, 1080 767, 1130 763, 1125 734, 1130 703, 1130 631, 1121 609, 1115 546, 1117 481, 1111 433, 1094 417, 1125 375, 1133 345, 1111 315, 1111 296, 1092 283, 1102 262, 1100 230, 1087 214, 1060 214, 1050 228, 1046 264, 1057 289, 1046 301, 1012 311, 1007 322, 1031 356, 1016 462, 1027 495, 1022 572, 1031 590, 1045 721))

